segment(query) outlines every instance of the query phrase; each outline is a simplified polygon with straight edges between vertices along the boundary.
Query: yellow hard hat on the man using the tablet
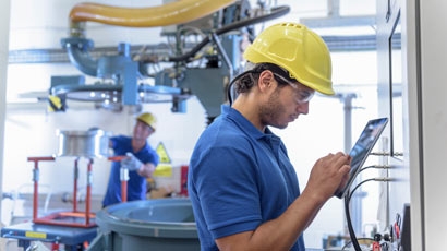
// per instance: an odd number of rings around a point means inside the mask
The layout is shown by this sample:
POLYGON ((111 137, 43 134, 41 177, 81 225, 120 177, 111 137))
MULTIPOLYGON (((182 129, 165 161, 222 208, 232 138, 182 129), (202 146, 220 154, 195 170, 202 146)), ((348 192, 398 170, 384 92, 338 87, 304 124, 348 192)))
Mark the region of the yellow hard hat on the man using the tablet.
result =
POLYGON ((278 23, 264 29, 244 51, 253 63, 274 63, 292 79, 326 95, 334 95, 329 49, 317 34, 298 23, 278 23))

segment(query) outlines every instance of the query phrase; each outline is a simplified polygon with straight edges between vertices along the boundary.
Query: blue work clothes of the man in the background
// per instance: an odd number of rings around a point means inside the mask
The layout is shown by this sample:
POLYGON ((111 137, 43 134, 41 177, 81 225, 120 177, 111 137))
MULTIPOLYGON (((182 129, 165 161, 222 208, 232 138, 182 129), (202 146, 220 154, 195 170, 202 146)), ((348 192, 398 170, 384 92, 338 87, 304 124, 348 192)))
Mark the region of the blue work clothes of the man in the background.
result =
MULTIPOLYGON (((125 153, 132 153, 140 162, 147 164, 153 163, 158 165, 159 156, 157 152, 150 147, 146 142, 146 145, 137 153, 133 152, 132 138, 118 135, 110 138, 111 148, 114 156, 125 156, 125 153)), ((120 162, 113 162, 111 165, 109 183, 107 186, 106 195, 102 201, 102 206, 108 206, 122 201, 121 199, 121 180, 120 180, 120 162)), ((145 200, 146 199, 146 178, 140 176, 136 171, 129 171, 128 180, 128 201, 145 200)))

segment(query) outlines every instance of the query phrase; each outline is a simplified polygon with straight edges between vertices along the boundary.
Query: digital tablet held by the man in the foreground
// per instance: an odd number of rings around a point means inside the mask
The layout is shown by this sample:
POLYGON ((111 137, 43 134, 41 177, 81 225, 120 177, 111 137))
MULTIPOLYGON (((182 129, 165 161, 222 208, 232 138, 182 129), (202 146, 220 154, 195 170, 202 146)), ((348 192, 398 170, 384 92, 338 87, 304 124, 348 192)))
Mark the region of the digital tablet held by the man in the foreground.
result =
POLYGON ((349 152, 351 156, 351 170, 349 171, 349 180, 343 189, 337 190, 335 193, 338 198, 343 198, 349 191, 357 175, 365 163, 371 151, 374 148, 378 138, 380 138, 386 124, 388 123, 388 118, 378 118, 367 121, 365 128, 357 140, 354 146, 349 152))

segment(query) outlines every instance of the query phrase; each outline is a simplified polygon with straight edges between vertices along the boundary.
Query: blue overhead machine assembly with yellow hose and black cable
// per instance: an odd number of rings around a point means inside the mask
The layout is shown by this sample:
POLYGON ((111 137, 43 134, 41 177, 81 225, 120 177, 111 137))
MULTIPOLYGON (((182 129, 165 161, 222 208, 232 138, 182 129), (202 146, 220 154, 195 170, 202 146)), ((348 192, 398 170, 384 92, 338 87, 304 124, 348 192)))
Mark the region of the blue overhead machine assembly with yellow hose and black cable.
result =
POLYGON ((253 25, 290 11, 289 7, 270 7, 265 1, 257 4, 252 9, 246 0, 182 0, 130 9, 80 3, 70 13, 70 37, 61 44, 72 64, 98 81, 86 84, 84 76, 53 76, 50 106, 56 111, 64 110, 67 100, 73 99, 116 111, 123 106, 138 111, 144 103, 172 103, 172 112, 184 112, 185 100, 195 95, 212 122, 226 103, 230 80, 241 68, 241 45, 244 39, 254 39, 253 25), (117 53, 95 58, 89 53, 94 43, 86 38, 87 21, 129 27, 164 26, 161 36, 173 43, 168 49, 121 43, 117 53), (200 41, 191 41, 192 37, 200 37, 200 41))

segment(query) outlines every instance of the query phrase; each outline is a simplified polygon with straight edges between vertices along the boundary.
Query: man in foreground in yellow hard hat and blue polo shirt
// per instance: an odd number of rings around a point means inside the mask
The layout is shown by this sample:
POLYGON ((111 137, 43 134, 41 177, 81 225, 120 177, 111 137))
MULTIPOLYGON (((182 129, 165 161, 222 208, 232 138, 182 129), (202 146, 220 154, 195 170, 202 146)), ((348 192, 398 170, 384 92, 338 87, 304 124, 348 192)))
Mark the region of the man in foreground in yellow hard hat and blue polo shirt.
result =
POLYGON ((285 129, 306 115, 315 92, 334 95, 330 55, 305 26, 279 23, 243 56, 245 71, 230 84, 235 95, 190 160, 188 190, 202 250, 304 251, 303 231, 346 184, 350 157, 338 152, 317 159, 301 192, 290 153, 268 127, 285 129))

